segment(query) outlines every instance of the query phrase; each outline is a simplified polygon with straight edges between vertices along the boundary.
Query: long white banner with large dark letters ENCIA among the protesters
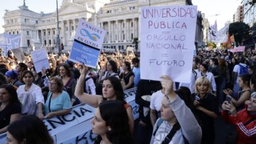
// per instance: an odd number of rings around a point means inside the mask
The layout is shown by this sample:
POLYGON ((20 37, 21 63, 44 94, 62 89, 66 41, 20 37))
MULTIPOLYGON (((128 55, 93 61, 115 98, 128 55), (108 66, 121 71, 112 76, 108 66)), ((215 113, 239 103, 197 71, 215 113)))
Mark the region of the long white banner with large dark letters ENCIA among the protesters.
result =
MULTIPOLYGON (((125 100, 133 109, 133 118, 139 118, 139 105, 135 103, 137 88, 125 90, 125 100)), ((91 119, 95 108, 89 105, 77 105, 68 115, 43 120, 54 142, 59 144, 94 143, 96 135, 91 132, 91 119)), ((0 144, 5 143, 6 133, 0 135, 0 144)))

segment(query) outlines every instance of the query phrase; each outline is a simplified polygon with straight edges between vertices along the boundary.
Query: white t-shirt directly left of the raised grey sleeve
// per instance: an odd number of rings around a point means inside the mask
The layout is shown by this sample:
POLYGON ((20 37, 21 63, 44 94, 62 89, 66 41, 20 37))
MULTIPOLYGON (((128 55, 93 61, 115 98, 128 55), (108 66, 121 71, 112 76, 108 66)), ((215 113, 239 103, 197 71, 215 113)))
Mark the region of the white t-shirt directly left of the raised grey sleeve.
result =
POLYGON ((151 101, 150 101, 150 109, 160 111, 161 101, 163 100, 164 96, 165 95, 161 92, 161 90, 158 90, 158 92, 154 92, 152 94, 151 101))

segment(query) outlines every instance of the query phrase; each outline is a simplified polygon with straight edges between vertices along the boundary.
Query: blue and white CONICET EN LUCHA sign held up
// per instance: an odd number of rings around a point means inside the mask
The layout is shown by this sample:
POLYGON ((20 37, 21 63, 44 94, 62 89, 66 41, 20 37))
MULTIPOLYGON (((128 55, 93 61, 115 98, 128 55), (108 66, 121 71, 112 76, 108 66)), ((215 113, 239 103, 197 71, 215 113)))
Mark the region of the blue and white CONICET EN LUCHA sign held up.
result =
POLYGON ((68 59, 73 62, 84 63, 89 67, 96 67, 104 37, 104 29, 79 19, 79 25, 75 31, 75 39, 68 59))

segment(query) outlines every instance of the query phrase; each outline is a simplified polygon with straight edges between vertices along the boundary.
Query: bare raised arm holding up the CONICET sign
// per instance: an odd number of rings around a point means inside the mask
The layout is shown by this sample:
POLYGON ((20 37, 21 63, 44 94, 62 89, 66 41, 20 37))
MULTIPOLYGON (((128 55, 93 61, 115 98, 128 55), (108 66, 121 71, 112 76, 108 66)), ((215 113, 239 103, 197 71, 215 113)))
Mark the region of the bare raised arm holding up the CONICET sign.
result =
POLYGON ((98 104, 100 103, 100 101, 102 101, 102 97, 98 95, 86 94, 83 92, 85 77, 88 71, 87 67, 85 67, 84 65, 79 65, 79 71, 81 75, 75 86, 75 96, 82 103, 86 103, 88 105, 91 105, 92 107, 98 107, 98 104))

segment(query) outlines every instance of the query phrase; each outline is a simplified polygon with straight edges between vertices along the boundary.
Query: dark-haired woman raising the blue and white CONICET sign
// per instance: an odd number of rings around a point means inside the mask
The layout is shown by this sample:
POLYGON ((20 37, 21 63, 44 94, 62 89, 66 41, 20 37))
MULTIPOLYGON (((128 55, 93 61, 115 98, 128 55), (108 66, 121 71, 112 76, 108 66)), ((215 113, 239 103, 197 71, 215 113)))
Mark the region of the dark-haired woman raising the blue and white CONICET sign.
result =
POLYGON ((83 92, 83 84, 88 69, 83 65, 79 65, 79 71, 81 75, 77 81, 77 86, 75 87, 75 96, 81 101, 81 103, 86 103, 88 105, 91 105, 92 107, 98 107, 98 105, 102 103, 102 101, 121 101, 121 103, 123 103, 123 105, 125 106, 128 114, 130 131, 133 132, 133 110, 124 99, 125 95, 123 94, 123 88, 121 86, 121 82, 119 81, 119 79, 113 76, 104 79, 102 84, 103 96, 86 94, 83 92))

